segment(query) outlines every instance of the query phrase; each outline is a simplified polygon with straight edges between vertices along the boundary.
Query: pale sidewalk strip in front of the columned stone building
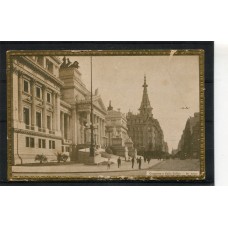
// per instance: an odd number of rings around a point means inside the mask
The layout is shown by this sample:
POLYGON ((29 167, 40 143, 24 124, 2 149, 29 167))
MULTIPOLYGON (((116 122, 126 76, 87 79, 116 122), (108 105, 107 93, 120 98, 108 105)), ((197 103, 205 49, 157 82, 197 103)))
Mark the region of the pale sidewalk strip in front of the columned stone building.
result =
MULTIPOLYGON (((161 160, 152 159, 150 163, 142 161, 141 169, 149 169, 150 167, 160 163, 161 160)), ((132 169, 131 162, 122 161, 121 167, 117 164, 112 164, 110 169, 107 165, 84 165, 84 164, 69 164, 69 165, 55 165, 55 166, 13 166, 13 173, 100 173, 100 172, 120 172, 120 171, 138 171, 139 167, 135 161, 132 169)))

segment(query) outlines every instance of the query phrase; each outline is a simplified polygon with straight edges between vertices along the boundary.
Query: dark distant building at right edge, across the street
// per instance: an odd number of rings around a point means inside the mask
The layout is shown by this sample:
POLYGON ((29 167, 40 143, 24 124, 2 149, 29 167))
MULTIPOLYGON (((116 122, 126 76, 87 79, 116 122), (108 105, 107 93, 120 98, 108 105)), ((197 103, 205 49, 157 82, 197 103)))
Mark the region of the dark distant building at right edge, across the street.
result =
POLYGON ((200 115, 188 118, 178 143, 178 154, 182 158, 199 158, 200 156, 200 115))

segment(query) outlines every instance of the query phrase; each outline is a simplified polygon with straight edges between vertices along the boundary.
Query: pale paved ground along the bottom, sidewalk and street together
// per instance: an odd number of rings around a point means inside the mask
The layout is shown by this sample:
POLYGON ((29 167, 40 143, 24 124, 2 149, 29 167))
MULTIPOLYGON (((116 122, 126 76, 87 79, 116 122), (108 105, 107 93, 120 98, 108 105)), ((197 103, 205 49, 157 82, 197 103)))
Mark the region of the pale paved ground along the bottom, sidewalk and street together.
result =
POLYGON ((68 164, 56 166, 14 166, 13 173, 15 176, 144 176, 146 171, 198 171, 199 160, 157 160, 153 159, 150 163, 142 162, 142 169, 138 169, 138 164, 135 163, 134 168, 131 167, 131 162, 122 161, 120 168, 117 164, 112 164, 110 169, 106 165, 94 166, 83 164, 68 164))

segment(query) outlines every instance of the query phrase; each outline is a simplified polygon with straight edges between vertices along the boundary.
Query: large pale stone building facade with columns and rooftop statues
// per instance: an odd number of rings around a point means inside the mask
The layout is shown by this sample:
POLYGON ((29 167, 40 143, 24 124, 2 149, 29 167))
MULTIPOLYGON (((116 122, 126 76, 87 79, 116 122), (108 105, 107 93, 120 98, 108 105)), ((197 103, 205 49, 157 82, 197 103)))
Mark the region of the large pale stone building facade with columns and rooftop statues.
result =
MULTIPOLYGON (((14 164, 34 163, 37 154, 48 161, 56 153, 76 153, 89 143, 90 91, 82 82, 78 62, 54 56, 15 56, 12 60, 12 131, 14 164)), ((97 144, 105 143, 106 108, 93 95, 97 144)))

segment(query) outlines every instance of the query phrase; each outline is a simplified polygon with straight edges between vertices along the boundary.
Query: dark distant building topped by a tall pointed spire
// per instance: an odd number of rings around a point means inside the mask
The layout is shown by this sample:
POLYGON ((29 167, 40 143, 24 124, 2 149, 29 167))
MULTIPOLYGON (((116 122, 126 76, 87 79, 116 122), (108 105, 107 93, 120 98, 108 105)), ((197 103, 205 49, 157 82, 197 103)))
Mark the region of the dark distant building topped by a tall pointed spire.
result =
POLYGON ((168 153, 168 145, 164 141, 161 126, 158 120, 153 118, 147 87, 146 77, 144 77, 140 112, 136 115, 132 112, 127 114, 128 134, 138 151, 148 151, 151 154, 168 153))

